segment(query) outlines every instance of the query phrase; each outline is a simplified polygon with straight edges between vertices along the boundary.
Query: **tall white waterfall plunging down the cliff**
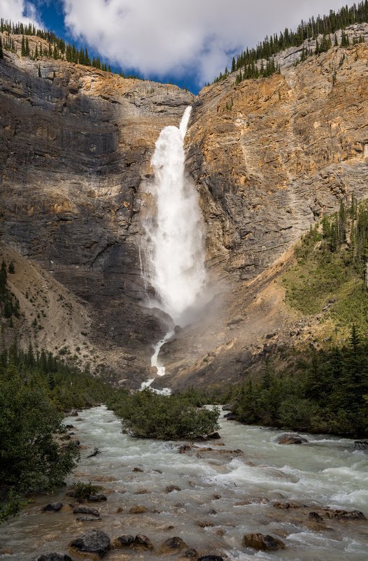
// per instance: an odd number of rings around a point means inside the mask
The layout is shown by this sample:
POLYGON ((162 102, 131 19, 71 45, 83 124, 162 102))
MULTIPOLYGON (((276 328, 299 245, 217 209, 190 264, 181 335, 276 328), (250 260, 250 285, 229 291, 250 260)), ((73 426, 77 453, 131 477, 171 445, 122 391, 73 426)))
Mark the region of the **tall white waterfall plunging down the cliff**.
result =
POLYGON ((190 321, 204 288, 204 227, 197 190, 185 177, 184 137, 191 107, 180 127, 165 127, 151 164, 155 179, 149 186, 155 197, 155 217, 147 219, 147 276, 160 307, 176 325, 190 321))

